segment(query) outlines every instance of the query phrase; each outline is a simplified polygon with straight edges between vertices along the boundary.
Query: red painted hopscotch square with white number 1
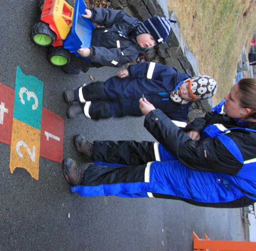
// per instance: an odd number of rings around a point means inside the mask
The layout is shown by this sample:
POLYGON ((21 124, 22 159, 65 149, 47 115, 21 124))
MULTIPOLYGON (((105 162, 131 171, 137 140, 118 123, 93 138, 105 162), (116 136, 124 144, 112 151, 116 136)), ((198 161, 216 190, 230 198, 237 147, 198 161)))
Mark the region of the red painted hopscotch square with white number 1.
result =
POLYGON ((43 107, 40 156, 61 163, 63 160, 64 120, 43 107))

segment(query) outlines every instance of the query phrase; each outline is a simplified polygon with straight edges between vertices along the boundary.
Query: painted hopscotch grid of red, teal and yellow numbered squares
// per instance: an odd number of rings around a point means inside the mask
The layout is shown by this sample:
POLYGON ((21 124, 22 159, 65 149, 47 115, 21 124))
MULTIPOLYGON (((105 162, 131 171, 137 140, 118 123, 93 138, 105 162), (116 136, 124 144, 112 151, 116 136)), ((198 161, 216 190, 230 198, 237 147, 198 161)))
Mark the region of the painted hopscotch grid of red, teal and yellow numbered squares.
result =
POLYGON ((39 179, 39 156, 61 163, 64 120, 42 107, 43 82, 17 67, 15 92, 0 83, 0 141, 11 145, 10 171, 39 179))

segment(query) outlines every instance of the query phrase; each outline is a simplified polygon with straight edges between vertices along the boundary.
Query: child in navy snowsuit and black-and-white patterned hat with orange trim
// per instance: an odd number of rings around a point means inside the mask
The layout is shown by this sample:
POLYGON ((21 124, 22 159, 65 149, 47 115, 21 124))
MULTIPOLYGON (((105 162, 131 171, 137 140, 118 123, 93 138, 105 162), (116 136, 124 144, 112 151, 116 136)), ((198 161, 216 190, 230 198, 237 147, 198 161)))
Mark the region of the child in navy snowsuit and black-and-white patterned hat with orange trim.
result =
POLYGON ((142 94, 169 118, 186 122, 192 102, 211 98, 217 91, 209 76, 193 77, 175 68, 153 62, 130 65, 106 82, 83 85, 76 91, 65 91, 68 118, 84 112, 92 119, 142 116, 138 100, 142 94))

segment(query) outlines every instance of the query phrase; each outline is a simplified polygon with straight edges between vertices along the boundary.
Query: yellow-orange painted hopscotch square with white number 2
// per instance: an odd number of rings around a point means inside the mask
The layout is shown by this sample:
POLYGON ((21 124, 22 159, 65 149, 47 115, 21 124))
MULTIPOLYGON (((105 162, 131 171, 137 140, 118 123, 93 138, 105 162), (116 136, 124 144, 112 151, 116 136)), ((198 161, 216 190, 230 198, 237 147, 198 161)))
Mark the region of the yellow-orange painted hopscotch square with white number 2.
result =
POLYGON ((40 130, 13 118, 10 171, 26 169, 39 180, 40 130))

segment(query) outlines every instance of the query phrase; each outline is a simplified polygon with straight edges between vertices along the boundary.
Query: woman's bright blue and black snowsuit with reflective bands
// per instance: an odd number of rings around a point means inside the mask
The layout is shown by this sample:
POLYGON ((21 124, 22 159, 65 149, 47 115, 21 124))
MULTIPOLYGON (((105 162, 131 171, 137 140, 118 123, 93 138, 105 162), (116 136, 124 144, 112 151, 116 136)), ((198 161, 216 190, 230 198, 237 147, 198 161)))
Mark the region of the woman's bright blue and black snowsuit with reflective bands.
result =
MULTIPOLYGON (((226 115, 214 115, 201 123, 201 140, 192 140, 156 109, 146 116, 144 126, 161 144, 94 141, 95 161, 116 160, 122 166, 92 164, 72 191, 82 196, 171 198, 231 208, 256 200, 255 123, 237 125, 226 115)), ((200 126, 192 123, 187 130, 200 126)))

